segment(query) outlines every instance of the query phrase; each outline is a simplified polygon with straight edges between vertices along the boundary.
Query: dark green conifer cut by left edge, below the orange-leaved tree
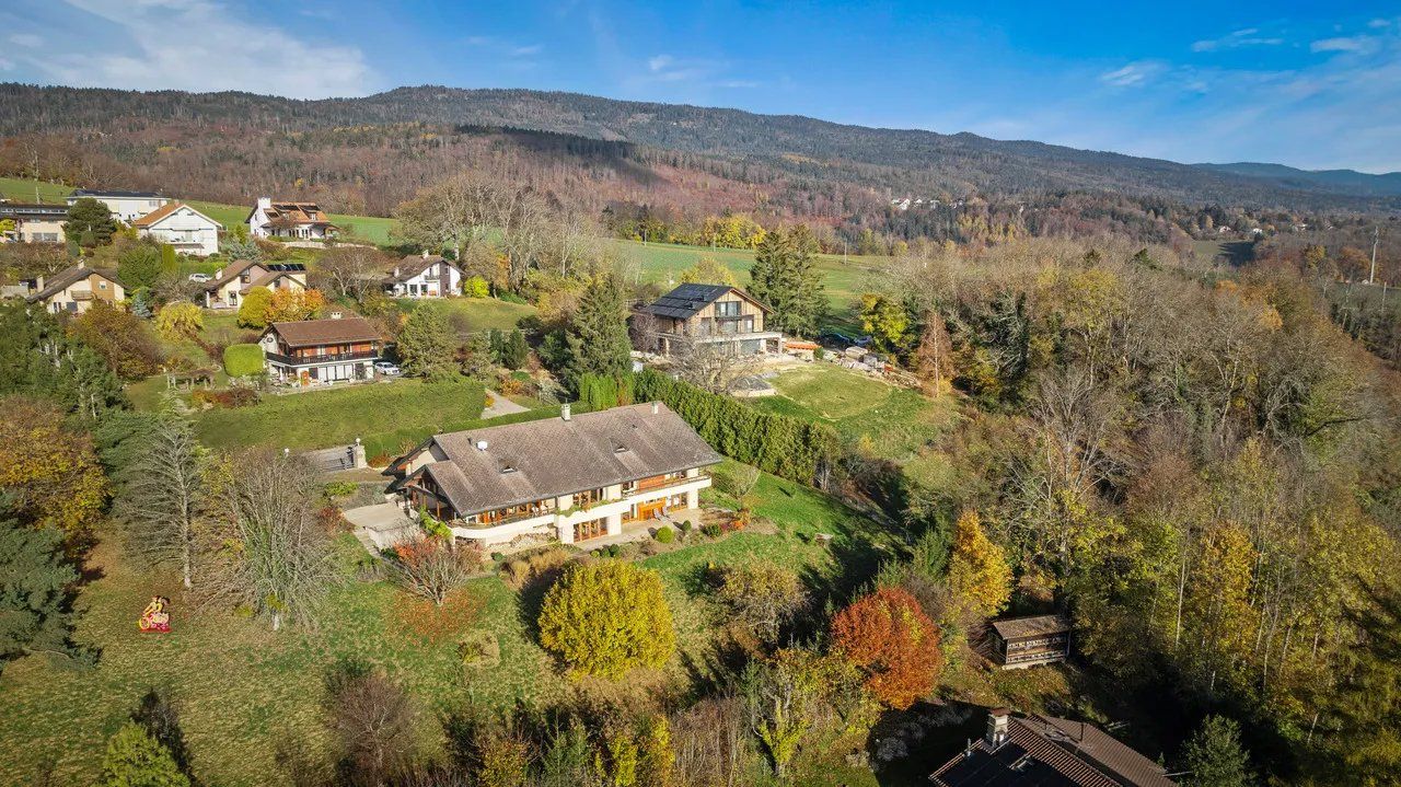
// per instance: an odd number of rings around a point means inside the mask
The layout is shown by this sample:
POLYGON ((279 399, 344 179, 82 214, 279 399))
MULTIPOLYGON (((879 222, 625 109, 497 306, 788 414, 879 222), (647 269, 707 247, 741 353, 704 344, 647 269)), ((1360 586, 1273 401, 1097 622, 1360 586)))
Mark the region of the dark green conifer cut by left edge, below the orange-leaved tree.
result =
POLYGON ((0 521, 0 669, 29 653, 76 655, 67 588, 78 580, 63 562, 63 534, 0 521))

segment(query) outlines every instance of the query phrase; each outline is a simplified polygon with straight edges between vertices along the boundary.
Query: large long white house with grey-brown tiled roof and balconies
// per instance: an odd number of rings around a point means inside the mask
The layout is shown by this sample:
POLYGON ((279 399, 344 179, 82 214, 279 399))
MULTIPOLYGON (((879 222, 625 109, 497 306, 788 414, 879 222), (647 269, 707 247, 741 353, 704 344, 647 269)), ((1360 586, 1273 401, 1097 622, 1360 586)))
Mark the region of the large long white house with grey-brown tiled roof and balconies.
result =
POLYGON ((478 548, 618 535, 699 506, 720 455, 660 402, 437 434, 391 489, 478 548))

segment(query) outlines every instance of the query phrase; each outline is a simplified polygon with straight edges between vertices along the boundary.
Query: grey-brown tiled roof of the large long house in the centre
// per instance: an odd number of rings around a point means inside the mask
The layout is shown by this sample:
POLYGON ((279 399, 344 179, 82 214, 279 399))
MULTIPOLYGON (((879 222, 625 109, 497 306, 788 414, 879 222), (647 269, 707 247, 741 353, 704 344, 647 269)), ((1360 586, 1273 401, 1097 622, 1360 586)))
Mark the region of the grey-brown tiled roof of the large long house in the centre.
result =
POLYGON ((425 473, 460 515, 573 494, 720 461, 665 405, 629 405, 439 434, 447 455, 425 473), (486 448, 479 450, 478 441, 486 448))

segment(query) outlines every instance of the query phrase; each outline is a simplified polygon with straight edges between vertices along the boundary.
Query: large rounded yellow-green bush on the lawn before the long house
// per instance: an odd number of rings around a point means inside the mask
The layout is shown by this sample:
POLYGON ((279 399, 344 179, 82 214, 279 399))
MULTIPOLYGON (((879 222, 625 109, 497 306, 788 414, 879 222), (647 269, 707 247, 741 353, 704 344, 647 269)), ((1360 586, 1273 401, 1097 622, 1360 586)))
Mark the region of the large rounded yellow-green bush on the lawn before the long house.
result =
POLYGON ((661 576, 616 560, 572 566, 545 595, 539 641, 576 678, 661 667, 677 646, 661 576))

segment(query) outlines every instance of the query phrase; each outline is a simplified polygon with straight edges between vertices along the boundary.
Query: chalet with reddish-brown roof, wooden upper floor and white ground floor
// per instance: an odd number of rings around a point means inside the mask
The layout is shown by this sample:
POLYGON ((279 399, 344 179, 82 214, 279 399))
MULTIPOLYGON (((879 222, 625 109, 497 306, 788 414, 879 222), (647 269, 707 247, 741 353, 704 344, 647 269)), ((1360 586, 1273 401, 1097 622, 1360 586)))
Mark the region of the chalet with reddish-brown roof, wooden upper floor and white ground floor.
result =
POLYGON ((363 316, 275 322, 258 339, 268 375, 277 381, 373 379, 384 342, 363 316))

